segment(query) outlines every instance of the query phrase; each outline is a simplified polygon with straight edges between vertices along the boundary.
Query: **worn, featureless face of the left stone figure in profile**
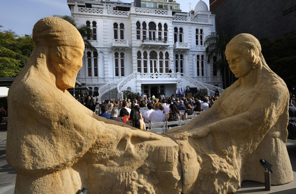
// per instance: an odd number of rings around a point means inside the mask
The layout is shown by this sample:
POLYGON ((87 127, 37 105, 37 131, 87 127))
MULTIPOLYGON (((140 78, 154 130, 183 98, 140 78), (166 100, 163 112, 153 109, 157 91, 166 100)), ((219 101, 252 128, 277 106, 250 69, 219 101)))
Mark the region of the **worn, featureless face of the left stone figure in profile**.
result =
POLYGON ((60 46, 51 47, 51 63, 56 70, 56 85, 60 90, 74 88, 76 76, 82 67, 81 48, 60 46))

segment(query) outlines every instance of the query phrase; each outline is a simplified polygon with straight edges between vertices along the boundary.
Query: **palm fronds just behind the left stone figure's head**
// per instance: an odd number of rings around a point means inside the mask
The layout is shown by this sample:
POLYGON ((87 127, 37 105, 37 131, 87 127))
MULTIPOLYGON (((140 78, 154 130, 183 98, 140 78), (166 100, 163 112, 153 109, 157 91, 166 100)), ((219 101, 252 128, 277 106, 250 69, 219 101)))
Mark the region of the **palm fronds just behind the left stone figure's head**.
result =
POLYGON ((92 29, 90 27, 88 27, 87 25, 80 25, 77 27, 74 18, 68 15, 64 15, 60 18, 66 20, 67 22, 71 23, 73 26, 77 28, 84 41, 85 50, 97 52, 97 49, 94 46, 92 46, 92 44, 88 40, 89 36, 91 39, 93 38, 92 29))

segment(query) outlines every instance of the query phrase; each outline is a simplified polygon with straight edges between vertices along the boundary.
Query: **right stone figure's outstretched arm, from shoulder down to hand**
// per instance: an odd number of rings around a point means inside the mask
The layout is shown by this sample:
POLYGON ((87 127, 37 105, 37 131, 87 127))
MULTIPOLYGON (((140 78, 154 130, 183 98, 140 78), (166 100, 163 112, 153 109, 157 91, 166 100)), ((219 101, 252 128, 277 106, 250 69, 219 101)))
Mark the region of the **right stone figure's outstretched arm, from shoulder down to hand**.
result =
POLYGON ((271 95, 269 92, 263 92, 256 97, 256 100, 246 112, 198 128, 195 128, 195 122, 193 120, 190 123, 191 125, 186 128, 183 127, 181 131, 171 133, 168 136, 173 139, 187 139, 189 137, 202 138, 209 133, 230 134, 236 131, 236 134, 245 134, 248 131, 258 130, 258 133, 262 133, 264 137, 270 127, 275 124, 278 116, 282 114, 286 106, 281 103, 283 102, 282 100, 279 100, 285 94, 279 92, 278 95, 280 96, 277 97, 277 95, 271 95), (266 130, 262 131, 263 129, 266 130))

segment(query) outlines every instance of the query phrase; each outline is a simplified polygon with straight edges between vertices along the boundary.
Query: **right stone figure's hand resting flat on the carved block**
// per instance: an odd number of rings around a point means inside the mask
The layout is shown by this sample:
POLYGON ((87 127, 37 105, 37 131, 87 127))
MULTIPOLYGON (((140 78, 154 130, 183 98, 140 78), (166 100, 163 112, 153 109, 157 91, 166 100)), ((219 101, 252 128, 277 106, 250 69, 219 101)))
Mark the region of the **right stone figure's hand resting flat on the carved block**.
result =
POLYGON ((187 130, 186 128, 179 131, 167 131, 166 133, 169 133, 169 137, 173 139, 188 139, 188 138, 203 138, 207 136, 210 133, 210 130, 208 127, 204 128, 195 128, 192 130, 187 130))

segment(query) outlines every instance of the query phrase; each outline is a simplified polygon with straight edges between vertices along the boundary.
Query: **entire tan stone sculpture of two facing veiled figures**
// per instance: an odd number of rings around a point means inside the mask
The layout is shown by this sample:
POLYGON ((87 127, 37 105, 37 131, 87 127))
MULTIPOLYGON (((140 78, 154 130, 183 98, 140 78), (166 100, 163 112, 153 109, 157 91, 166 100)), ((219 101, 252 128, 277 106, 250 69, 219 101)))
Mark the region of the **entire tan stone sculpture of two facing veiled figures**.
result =
POLYGON ((253 36, 227 46, 239 80, 211 109, 162 135, 99 117, 68 93, 84 52, 70 23, 43 18, 33 39, 8 94, 6 157, 17 171, 15 193, 228 193, 243 180, 263 182, 261 158, 274 165, 272 184, 292 181, 288 90, 253 36))

